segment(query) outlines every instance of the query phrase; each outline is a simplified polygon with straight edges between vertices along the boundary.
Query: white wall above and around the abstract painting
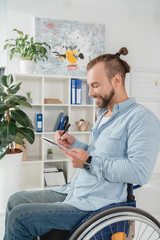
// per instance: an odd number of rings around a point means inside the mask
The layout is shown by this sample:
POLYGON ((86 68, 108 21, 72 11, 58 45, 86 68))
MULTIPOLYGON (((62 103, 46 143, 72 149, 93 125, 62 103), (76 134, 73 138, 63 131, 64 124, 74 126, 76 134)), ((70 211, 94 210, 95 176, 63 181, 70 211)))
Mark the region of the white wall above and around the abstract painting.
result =
MULTIPOLYGON (((34 17, 106 24, 106 52, 126 46, 132 68, 160 69, 159 0, 7 0, 8 37, 18 28, 34 36, 34 17)), ((9 71, 18 71, 14 59, 9 71)))

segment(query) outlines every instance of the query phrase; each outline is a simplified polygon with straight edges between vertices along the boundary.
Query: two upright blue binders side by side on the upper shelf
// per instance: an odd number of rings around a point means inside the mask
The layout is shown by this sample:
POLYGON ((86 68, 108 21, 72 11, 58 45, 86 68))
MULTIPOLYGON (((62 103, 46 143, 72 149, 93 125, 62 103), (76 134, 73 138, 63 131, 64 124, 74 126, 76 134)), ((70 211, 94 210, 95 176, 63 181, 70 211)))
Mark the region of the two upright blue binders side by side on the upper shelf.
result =
POLYGON ((82 80, 71 79, 71 104, 82 104, 82 80))

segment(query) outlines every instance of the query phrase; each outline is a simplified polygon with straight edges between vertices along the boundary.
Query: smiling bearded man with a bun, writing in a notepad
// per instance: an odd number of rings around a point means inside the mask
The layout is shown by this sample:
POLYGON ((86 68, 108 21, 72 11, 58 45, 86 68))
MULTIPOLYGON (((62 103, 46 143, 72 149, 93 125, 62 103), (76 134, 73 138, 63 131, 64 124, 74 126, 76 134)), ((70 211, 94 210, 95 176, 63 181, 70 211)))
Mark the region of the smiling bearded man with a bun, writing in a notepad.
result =
MULTIPOLYGON (((158 154, 160 123, 145 107, 128 98, 128 53, 104 54, 87 66, 89 95, 100 108, 89 145, 63 131, 56 140, 78 171, 72 182, 46 191, 19 192, 6 210, 4 240, 33 239, 51 229, 70 230, 91 211, 126 201, 127 183, 148 182, 158 154)), ((56 239, 56 238, 55 238, 56 239)))

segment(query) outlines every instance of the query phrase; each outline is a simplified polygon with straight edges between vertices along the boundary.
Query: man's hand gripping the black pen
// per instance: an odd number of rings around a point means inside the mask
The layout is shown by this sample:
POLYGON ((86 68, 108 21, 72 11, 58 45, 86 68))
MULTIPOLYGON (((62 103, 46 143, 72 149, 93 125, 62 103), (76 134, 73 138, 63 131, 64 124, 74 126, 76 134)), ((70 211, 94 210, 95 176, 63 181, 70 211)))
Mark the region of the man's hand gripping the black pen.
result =
POLYGON ((65 133, 62 136, 62 133, 64 131, 56 131, 56 135, 55 135, 55 140, 56 142, 58 142, 60 145, 64 146, 65 148, 70 148, 73 143, 75 142, 75 138, 70 135, 69 133, 65 133))

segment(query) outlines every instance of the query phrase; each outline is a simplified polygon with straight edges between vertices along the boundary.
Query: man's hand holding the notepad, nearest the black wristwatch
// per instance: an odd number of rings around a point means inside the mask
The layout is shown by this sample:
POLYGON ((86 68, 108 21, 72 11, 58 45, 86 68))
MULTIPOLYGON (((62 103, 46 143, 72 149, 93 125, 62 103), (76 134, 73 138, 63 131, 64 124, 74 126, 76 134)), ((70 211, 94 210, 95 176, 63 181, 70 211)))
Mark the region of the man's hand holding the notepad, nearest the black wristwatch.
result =
POLYGON ((83 149, 73 148, 70 151, 59 148, 60 151, 70 159, 74 168, 83 168, 84 162, 88 159, 89 154, 83 149))

